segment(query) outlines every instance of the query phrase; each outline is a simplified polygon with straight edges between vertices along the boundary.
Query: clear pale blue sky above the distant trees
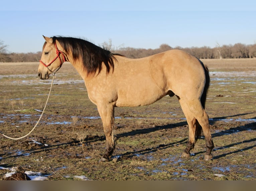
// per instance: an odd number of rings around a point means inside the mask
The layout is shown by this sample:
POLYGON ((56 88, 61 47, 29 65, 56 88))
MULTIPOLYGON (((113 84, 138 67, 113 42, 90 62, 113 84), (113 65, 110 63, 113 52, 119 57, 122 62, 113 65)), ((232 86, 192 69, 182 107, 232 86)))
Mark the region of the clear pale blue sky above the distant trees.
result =
POLYGON ((0 41, 15 53, 41 51, 42 35, 146 49, 256 43, 255 1, 176 1, 3 0, 0 41))

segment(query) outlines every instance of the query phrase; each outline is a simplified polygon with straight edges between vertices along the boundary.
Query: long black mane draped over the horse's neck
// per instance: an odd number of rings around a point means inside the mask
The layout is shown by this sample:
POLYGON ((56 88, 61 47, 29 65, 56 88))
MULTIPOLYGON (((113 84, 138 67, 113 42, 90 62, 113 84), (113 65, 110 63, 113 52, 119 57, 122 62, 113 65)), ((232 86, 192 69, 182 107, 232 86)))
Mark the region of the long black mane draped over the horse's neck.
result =
MULTIPOLYGON (((72 37, 52 37, 53 43, 57 40, 67 54, 72 54, 74 60, 81 59, 84 69, 88 74, 95 74, 102 69, 102 62, 107 68, 107 73, 114 71, 114 61, 116 58, 110 51, 96 46, 95 44, 83 39, 72 37)), ((120 55, 121 56, 121 55, 120 55)))

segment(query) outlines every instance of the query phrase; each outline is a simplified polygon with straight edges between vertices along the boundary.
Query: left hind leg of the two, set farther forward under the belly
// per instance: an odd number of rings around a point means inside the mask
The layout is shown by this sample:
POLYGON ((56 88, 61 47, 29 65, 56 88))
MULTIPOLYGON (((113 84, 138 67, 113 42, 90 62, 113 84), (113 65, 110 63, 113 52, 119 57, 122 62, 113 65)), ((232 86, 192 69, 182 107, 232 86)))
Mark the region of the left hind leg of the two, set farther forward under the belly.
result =
MULTIPOLYGON (((179 99, 179 97, 178 97, 179 99)), ((189 129, 189 135, 188 135, 188 141, 187 141, 187 146, 182 153, 181 157, 189 157, 190 156, 190 150, 194 149, 195 146, 195 134, 196 134, 196 123, 197 120, 193 116, 193 114, 190 112, 190 109, 187 107, 187 104, 183 102, 183 100, 179 99, 182 111, 186 117, 187 124, 188 124, 188 129, 189 129)))

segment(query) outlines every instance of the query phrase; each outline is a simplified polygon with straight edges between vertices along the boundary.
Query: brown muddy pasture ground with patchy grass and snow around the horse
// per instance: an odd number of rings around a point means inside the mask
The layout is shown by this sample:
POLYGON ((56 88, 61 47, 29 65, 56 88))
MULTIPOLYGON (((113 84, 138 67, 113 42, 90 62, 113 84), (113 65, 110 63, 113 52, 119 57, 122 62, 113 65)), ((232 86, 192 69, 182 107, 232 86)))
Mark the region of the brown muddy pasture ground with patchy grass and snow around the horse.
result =
MULTIPOLYGON (((256 59, 202 60, 211 86, 206 103, 215 148, 204 161, 202 135, 189 159, 188 137, 176 97, 115 109, 116 150, 98 163, 105 136, 82 78, 65 63, 39 125, 26 138, 0 135, 0 180, 255 180, 256 59)), ((0 131, 19 137, 37 122, 51 79, 39 63, 0 63, 0 131)))

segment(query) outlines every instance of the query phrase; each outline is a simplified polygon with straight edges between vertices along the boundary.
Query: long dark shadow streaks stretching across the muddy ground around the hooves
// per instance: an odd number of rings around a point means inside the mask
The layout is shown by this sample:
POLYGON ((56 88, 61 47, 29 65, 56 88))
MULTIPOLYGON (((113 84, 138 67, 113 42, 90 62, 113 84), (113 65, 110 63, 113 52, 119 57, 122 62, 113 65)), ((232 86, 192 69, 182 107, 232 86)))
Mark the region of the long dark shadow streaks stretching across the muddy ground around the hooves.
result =
MULTIPOLYGON (((248 113, 236 114, 236 115, 232 115, 232 116, 216 117, 216 118, 213 118, 213 120, 211 120, 210 123, 214 124, 218 120, 222 120, 222 119, 226 119, 226 118, 234 117, 234 116, 242 116, 242 115, 246 115, 246 114, 248 114, 248 113)), ((252 119, 255 119, 255 118, 252 118, 252 119)), ((129 131, 129 132, 119 133, 119 134, 116 135, 116 138, 119 139, 119 138, 127 137, 127 136, 147 134, 147 133, 154 132, 154 131, 157 131, 157 130, 172 129, 172 128, 183 126, 183 125, 186 125, 186 124, 187 124, 186 121, 181 121, 181 122, 178 122, 178 123, 171 123, 171 124, 162 125, 162 126, 155 126, 155 127, 143 128, 143 129, 136 129, 136 130, 132 130, 132 131, 129 131)), ((256 130, 256 122, 247 123, 245 125, 237 126, 237 127, 230 128, 230 129, 227 129, 227 130, 222 130, 220 132, 215 132, 215 133, 212 134, 212 137, 213 138, 214 137, 219 137, 219 136, 223 136, 225 134, 237 133, 237 132, 245 131, 245 130, 248 130, 248 129, 256 130)), ((202 139, 204 139, 204 137, 202 139)), ((87 143, 96 142, 96 141, 105 141, 105 136, 104 135, 102 135, 102 136, 96 135, 96 136, 88 137, 86 139, 87 143)), ((243 142, 232 143, 232 144, 229 144, 229 145, 223 146, 221 148, 217 148, 217 149, 218 150, 225 149, 225 148, 228 148, 228 147, 232 147, 234 145, 242 144, 242 143, 245 143, 245 142, 253 142, 253 141, 256 141, 256 138, 249 139, 249 140, 244 140, 243 142)), ((168 144, 160 144, 158 146, 151 147, 151 148, 141 149, 141 150, 132 151, 132 152, 126 152, 126 153, 122 154, 122 156, 133 157, 133 156, 138 155, 138 154, 139 155, 143 155, 143 154, 147 154, 147 153, 156 152, 157 150, 162 150, 162 149, 166 149, 166 148, 169 148, 169 147, 173 147, 173 146, 175 146, 177 144, 186 144, 186 142, 187 142, 187 138, 184 138, 184 139, 182 139, 180 141, 170 142, 168 144)), ((60 147, 62 145, 71 145, 71 144, 74 144, 74 140, 72 140, 70 142, 49 145, 47 147, 43 146, 43 147, 38 148, 38 149, 28 149, 28 150, 26 150, 26 152, 30 151, 30 152, 33 152, 33 153, 39 153, 39 152, 42 152, 42 151, 57 149, 58 147, 60 147)), ((256 145, 253 145, 253 146, 245 147, 243 149, 238 149, 236 151, 232 151, 232 152, 229 152, 229 153, 224 153, 224 154, 215 156, 214 159, 225 157, 225 156, 227 156, 229 154, 232 154, 232 153, 238 153, 238 152, 241 152, 241 151, 244 151, 244 150, 248 150, 248 149, 254 148, 255 146, 256 145)), ((217 149, 215 149, 215 150, 217 150, 217 149)), ((204 151, 196 152, 195 155, 202 154, 202 153, 204 153, 204 151)), ((1 155, 4 156, 5 154, 0 154, 0 156, 1 155)), ((10 153, 9 156, 2 157, 1 159, 10 158, 10 157, 18 157, 18 156, 22 156, 22 155, 23 154, 12 155, 10 153)))

